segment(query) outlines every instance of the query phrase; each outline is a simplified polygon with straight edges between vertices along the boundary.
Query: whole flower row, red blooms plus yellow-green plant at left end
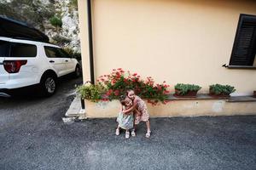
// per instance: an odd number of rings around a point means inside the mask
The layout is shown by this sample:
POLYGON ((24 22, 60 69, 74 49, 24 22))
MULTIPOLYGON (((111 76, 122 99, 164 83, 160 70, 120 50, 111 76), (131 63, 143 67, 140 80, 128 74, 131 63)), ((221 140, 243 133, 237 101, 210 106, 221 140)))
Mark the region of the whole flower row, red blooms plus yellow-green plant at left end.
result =
POLYGON ((119 99, 126 90, 133 89, 135 94, 143 99, 148 99, 148 103, 156 105, 159 101, 166 104, 166 99, 170 93, 166 82, 154 83, 152 77, 143 80, 137 73, 124 71, 123 69, 113 69, 108 75, 98 77, 96 84, 85 84, 78 88, 82 99, 92 101, 119 99))

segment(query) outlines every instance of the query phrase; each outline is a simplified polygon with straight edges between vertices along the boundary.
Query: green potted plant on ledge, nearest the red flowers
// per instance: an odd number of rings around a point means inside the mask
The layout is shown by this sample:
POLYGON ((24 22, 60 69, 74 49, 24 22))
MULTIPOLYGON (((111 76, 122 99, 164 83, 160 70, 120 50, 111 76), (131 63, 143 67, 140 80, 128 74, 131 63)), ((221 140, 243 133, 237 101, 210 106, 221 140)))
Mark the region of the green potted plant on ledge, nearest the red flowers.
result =
POLYGON ((200 86, 195 84, 183 84, 177 83, 175 85, 175 97, 183 97, 183 98, 195 98, 197 92, 201 89, 200 86))

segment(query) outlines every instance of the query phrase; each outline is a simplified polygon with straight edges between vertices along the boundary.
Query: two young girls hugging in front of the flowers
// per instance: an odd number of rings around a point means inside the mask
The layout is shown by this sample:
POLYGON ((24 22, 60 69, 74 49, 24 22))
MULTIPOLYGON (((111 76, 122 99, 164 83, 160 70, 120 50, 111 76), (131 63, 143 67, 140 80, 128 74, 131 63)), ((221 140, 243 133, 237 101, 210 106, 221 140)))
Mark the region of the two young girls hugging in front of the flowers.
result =
POLYGON ((115 134, 119 135, 120 128, 125 129, 125 139, 131 136, 136 136, 136 125, 143 121, 147 125, 146 138, 150 137, 150 123, 147 105, 137 95, 134 94, 133 90, 127 90, 126 95, 122 95, 119 98, 121 103, 121 109, 117 117, 118 127, 116 128, 115 134))

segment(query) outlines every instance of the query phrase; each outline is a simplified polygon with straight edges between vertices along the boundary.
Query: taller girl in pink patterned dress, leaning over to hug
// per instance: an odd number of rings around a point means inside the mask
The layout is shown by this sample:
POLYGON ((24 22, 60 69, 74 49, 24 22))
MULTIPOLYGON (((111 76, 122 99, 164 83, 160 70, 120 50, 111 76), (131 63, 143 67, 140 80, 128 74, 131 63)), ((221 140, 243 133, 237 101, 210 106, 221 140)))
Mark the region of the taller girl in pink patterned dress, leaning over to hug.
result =
MULTIPOLYGON (((133 90, 127 90, 126 95, 132 100, 133 105, 130 109, 123 111, 123 113, 128 113, 130 111, 134 111, 135 109, 137 109, 139 113, 136 112, 134 123, 138 124, 141 121, 146 122, 146 125, 147 125, 146 138, 149 138, 151 131, 150 131, 150 122, 149 122, 147 105, 145 104, 143 99, 141 99, 140 97, 134 94, 133 90)), ((135 135, 136 135, 135 128, 133 128, 131 131, 131 136, 135 136, 135 135)))

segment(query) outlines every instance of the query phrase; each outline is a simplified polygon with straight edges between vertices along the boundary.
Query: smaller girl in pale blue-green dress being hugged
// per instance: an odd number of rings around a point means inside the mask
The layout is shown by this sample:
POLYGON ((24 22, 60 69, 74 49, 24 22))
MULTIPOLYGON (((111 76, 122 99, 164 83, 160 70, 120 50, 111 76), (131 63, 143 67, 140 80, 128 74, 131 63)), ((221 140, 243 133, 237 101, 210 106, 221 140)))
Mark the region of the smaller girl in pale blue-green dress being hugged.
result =
POLYGON ((132 101, 125 95, 120 96, 119 100, 121 103, 121 110, 117 117, 118 127, 115 131, 115 134, 119 135, 119 128, 121 127, 126 130, 125 139, 129 139, 130 138, 129 129, 133 128, 134 116, 132 111, 127 111, 127 110, 132 107, 132 101), (126 112, 124 113, 124 111, 126 112))

